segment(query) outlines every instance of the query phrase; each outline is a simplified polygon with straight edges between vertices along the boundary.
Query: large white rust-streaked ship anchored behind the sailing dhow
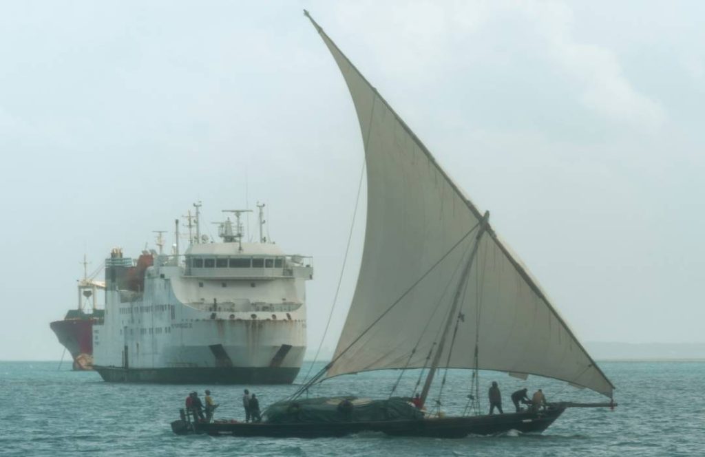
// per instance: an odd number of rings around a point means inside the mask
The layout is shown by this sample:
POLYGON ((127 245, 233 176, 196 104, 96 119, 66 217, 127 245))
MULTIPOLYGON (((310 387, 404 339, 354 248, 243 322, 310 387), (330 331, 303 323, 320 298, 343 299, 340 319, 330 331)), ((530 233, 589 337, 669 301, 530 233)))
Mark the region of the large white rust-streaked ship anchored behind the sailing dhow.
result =
MULTIPOLYGON (((197 210, 199 209, 197 205, 197 210)), ((240 216, 220 243, 198 230, 184 255, 114 249, 105 262, 104 324, 94 325, 94 368, 106 381, 290 383, 306 349, 310 257, 262 236, 243 242, 240 216)), ((178 240, 178 221, 176 223, 178 240)), ((164 242, 159 233, 161 251, 164 242)))

